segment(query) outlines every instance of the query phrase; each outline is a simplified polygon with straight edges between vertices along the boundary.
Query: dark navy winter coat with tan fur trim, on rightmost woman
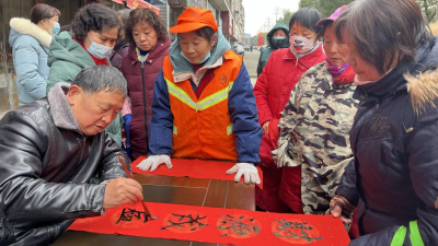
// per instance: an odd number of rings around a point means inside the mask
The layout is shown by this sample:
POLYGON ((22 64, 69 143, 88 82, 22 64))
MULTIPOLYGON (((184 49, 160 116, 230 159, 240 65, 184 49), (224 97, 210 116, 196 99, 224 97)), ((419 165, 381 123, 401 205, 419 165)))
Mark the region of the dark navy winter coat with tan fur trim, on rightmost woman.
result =
POLYGON ((417 50, 416 62, 402 62, 355 93, 355 161, 336 191, 354 206, 360 198, 361 237, 350 245, 390 245, 393 238, 419 245, 413 237, 438 245, 438 70, 405 79, 436 68, 437 44, 438 37, 417 50))

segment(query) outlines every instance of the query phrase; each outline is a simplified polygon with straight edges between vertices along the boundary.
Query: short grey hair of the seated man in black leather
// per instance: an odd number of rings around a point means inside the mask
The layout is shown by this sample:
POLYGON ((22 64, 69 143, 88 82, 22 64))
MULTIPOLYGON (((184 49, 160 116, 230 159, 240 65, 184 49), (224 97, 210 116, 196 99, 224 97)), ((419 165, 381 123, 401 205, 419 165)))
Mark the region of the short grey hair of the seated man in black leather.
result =
POLYGON ((73 83, 80 86, 87 94, 101 91, 128 93, 126 80, 116 68, 105 65, 94 65, 82 69, 74 78, 73 83))

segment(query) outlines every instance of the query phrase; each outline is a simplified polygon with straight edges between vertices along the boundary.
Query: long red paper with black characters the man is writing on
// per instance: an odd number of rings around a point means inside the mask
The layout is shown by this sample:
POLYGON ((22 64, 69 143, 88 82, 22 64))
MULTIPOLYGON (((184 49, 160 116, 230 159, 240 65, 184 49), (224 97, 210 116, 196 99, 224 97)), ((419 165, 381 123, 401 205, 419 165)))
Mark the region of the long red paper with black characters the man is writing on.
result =
POLYGON ((347 245, 341 219, 255 212, 239 209, 148 202, 106 210, 105 215, 78 219, 68 230, 233 245, 347 245))

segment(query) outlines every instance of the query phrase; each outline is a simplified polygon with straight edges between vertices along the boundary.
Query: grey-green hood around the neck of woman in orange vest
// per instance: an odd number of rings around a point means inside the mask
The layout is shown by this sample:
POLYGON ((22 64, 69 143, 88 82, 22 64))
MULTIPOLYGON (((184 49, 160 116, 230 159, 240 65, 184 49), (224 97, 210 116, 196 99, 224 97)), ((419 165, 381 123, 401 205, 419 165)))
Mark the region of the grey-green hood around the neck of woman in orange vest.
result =
MULTIPOLYGON (((209 68, 212 65, 217 63, 219 58, 222 58, 222 55, 228 52, 228 50, 230 50, 231 48, 230 43, 228 43, 222 32, 218 31, 217 34, 218 34, 218 42, 212 48, 211 57, 207 60, 207 62, 204 65, 203 68, 209 68)), ((174 75, 181 73, 194 74, 192 63, 188 62, 183 56, 181 56, 181 47, 178 38, 176 38, 171 45, 170 58, 173 66, 174 75)), ((186 77, 180 77, 180 78, 185 78, 185 79, 175 80, 175 82, 184 81, 187 79, 186 77)))

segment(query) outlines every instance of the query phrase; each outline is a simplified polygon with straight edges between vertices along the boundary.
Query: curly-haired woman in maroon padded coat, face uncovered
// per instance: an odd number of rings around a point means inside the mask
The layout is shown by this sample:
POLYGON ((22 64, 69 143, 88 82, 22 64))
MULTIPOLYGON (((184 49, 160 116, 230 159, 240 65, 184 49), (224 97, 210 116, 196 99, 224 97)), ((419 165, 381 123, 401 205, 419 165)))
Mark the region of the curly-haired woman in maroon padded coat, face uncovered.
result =
POLYGON ((125 116, 126 131, 132 160, 148 154, 148 128, 152 116, 153 83, 169 55, 171 40, 168 28, 151 9, 138 8, 130 12, 125 37, 130 43, 122 59, 120 71, 128 82, 131 119, 125 116))

